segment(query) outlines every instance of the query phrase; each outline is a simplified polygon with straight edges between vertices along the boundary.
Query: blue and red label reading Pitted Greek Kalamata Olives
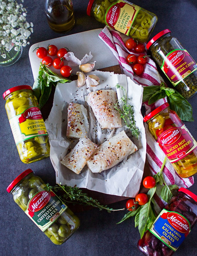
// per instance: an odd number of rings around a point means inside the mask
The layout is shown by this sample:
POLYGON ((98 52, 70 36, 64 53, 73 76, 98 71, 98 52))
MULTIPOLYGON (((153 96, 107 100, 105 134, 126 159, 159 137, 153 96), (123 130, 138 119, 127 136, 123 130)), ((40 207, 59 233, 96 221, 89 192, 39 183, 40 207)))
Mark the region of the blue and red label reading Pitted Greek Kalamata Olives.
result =
POLYGON ((191 231, 189 221, 175 211, 163 209, 149 231, 176 251, 191 231))

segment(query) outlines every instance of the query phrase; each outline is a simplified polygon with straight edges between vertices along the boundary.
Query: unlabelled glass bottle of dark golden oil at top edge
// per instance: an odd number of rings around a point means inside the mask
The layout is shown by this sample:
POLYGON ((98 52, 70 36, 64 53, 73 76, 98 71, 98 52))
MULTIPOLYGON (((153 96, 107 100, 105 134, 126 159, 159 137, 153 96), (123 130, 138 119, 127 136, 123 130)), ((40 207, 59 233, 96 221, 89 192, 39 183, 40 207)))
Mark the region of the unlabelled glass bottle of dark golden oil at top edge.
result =
POLYGON ((45 0, 44 10, 50 28, 57 33, 70 31, 74 26, 71 0, 45 0))

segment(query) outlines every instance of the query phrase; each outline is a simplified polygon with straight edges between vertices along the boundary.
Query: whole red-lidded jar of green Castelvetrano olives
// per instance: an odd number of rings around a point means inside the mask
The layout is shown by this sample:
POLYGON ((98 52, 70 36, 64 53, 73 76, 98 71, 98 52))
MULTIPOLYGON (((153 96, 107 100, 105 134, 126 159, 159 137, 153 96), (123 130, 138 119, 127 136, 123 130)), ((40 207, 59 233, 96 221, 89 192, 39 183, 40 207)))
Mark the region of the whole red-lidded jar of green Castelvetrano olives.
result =
POLYGON ((43 180, 25 170, 8 186, 14 201, 57 245, 64 243, 79 227, 79 218, 53 191, 45 190, 43 180))

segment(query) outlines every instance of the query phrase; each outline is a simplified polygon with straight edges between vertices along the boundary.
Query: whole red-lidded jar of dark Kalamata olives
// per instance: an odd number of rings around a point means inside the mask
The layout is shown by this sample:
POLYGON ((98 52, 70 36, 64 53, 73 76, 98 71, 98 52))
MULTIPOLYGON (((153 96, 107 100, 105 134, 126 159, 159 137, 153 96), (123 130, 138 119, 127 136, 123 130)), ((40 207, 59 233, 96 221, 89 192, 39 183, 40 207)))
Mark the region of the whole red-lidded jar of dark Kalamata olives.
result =
POLYGON ((138 241, 138 249, 148 256, 171 256, 197 221, 197 196, 185 188, 178 190, 160 212, 152 227, 138 241))

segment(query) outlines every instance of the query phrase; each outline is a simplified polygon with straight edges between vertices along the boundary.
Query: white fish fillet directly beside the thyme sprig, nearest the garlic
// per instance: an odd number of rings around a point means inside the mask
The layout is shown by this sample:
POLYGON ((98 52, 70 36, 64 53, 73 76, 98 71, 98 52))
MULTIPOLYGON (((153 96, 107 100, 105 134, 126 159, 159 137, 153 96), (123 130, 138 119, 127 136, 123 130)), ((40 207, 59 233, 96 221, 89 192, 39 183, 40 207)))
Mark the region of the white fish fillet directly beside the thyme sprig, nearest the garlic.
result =
POLYGON ((122 127, 120 113, 114 109, 117 102, 117 93, 114 90, 98 90, 85 96, 85 101, 92 111, 102 129, 122 127))

